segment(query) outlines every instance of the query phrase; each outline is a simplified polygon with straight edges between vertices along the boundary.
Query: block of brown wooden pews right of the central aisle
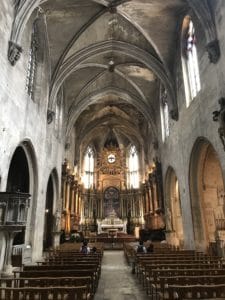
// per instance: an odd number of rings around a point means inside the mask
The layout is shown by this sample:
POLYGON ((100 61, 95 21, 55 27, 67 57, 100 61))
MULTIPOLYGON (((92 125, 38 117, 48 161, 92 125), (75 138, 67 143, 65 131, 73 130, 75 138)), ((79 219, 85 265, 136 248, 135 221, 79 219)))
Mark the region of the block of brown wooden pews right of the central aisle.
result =
MULTIPOLYGON (((124 249, 131 256, 131 245, 124 249)), ((153 253, 134 254, 133 250, 133 255, 133 273, 150 299, 225 299, 222 258, 166 245, 155 245, 153 253)))

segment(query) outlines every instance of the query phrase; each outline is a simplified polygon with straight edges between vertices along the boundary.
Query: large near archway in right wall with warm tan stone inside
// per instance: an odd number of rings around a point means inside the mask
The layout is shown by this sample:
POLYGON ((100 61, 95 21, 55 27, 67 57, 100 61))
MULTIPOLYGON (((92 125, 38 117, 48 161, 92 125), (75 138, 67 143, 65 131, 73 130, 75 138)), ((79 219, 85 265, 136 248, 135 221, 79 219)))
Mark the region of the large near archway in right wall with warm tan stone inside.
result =
POLYGON ((205 250, 215 242, 224 220, 224 183, 217 153, 204 138, 193 147, 189 176, 195 244, 205 250))

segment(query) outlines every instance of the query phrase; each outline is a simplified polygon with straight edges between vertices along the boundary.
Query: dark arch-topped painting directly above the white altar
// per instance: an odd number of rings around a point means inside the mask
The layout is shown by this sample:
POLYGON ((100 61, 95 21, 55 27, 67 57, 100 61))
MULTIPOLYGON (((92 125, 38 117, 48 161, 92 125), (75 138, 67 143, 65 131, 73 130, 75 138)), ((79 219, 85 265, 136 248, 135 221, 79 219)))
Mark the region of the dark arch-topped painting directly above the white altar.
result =
POLYGON ((118 218, 120 215, 119 191, 115 187, 108 187, 104 193, 105 217, 118 218))

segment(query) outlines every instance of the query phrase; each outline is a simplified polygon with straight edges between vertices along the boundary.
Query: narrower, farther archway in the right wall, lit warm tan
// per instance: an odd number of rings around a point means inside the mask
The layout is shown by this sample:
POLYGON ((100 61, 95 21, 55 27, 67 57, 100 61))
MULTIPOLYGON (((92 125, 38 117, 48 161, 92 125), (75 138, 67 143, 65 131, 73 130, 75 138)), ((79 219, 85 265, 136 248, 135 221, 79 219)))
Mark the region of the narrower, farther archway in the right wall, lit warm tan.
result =
POLYGON ((169 167, 166 174, 166 230, 169 242, 183 246, 184 232, 180 203, 179 183, 176 173, 169 167))

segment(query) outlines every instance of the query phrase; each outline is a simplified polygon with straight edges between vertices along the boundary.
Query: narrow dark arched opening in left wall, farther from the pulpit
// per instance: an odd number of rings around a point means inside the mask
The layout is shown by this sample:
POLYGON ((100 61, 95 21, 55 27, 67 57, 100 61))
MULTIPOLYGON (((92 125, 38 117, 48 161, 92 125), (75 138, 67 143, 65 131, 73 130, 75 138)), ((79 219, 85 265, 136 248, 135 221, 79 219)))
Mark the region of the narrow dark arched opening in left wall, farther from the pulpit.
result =
POLYGON ((46 205, 45 205, 45 228, 44 228, 44 240, 43 248, 44 250, 52 247, 52 229, 53 229, 53 181, 52 176, 49 177, 47 193, 46 193, 46 205))

